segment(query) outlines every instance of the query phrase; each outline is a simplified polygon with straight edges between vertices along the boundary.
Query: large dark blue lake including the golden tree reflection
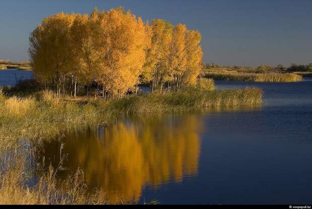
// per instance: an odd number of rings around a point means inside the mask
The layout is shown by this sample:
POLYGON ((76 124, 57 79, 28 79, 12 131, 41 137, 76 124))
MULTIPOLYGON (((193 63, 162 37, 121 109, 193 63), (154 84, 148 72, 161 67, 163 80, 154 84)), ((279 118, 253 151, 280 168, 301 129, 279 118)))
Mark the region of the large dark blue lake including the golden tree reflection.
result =
POLYGON ((36 160, 62 168, 60 180, 83 169, 88 189, 111 200, 311 204, 312 79, 215 83, 260 87, 263 105, 119 118, 45 142, 36 160))

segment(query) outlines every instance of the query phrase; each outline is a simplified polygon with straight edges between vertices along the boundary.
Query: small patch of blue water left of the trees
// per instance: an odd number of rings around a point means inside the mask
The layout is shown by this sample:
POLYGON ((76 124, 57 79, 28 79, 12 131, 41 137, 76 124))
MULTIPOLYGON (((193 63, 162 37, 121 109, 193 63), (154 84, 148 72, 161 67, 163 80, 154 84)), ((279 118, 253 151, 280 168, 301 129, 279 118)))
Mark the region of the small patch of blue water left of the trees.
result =
POLYGON ((15 85, 19 80, 31 79, 33 75, 30 70, 0 70, 0 86, 15 85))

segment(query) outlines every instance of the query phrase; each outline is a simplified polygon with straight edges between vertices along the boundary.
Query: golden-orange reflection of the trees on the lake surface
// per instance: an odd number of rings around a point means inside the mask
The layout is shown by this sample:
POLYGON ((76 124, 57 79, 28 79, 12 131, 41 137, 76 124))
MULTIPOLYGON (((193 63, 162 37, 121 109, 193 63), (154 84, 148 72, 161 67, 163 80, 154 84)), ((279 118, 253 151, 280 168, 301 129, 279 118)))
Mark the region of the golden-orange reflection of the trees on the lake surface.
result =
POLYGON ((68 153, 57 176, 83 169, 88 188, 102 188, 110 200, 139 200, 145 185, 181 182, 197 174, 202 121, 194 116, 121 119, 109 126, 67 133, 45 142, 38 156, 56 168, 68 153), (61 150, 61 144, 63 149, 61 150))

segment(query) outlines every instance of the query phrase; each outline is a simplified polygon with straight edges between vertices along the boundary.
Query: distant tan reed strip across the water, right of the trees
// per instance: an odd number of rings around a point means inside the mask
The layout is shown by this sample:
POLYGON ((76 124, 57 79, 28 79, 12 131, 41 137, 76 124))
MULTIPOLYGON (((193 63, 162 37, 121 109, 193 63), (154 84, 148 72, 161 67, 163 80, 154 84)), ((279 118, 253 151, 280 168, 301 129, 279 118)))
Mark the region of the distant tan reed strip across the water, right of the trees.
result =
POLYGON ((255 82, 293 82, 302 80, 302 76, 295 73, 248 73, 236 71, 207 71, 206 78, 214 80, 255 81, 255 82))

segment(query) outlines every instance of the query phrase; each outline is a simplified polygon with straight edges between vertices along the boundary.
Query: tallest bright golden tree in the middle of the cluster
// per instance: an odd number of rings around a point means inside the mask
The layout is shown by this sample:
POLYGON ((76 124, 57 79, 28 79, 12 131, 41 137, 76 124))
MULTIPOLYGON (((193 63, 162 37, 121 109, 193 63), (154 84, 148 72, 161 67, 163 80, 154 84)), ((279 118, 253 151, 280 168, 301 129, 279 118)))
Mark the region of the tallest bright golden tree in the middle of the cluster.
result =
POLYGON ((144 23, 117 8, 103 14, 99 27, 101 63, 97 81, 104 91, 119 97, 139 82, 145 61, 144 23))

